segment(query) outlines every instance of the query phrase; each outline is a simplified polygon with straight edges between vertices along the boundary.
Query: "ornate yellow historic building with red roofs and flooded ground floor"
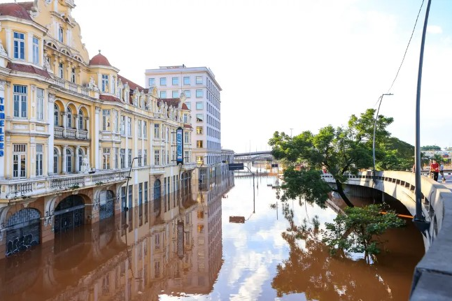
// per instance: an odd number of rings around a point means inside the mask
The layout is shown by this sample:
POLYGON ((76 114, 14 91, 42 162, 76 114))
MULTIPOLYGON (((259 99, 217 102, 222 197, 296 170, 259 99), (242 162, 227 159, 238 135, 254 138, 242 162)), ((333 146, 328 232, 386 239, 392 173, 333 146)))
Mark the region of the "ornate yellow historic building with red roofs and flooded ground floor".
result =
POLYGON ((166 196, 190 190, 185 97, 90 59, 74 7, 0 4, 0 258, 154 200, 169 212, 182 198, 166 196))

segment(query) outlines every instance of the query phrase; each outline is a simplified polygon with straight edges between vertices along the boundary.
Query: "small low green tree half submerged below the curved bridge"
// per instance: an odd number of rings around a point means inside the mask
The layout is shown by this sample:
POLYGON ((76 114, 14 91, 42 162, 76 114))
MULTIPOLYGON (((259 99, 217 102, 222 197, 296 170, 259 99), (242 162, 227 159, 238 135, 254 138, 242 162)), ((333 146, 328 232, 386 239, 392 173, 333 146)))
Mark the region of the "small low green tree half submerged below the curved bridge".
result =
POLYGON ((346 208, 345 214, 338 214, 334 223, 325 223, 326 231, 323 242, 335 254, 338 250, 363 253, 369 257, 380 253, 379 236, 389 228, 400 228, 404 221, 394 212, 381 214, 383 205, 346 208))

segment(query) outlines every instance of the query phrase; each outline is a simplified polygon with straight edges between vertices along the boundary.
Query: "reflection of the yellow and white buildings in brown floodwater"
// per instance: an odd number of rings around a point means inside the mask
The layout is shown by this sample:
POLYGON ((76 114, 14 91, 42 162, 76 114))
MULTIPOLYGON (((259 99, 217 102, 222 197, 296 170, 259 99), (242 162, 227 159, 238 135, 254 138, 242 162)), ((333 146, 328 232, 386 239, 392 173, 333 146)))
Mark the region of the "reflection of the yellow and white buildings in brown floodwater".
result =
POLYGON ((199 202, 186 186, 157 206, 144 203, 119 218, 62 233, 55 247, 43 244, 1 260, 1 298, 129 301, 158 300, 162 292, 209 293, 222 264, 221 198, 232 184, 229 177, 212 185, 199 202))

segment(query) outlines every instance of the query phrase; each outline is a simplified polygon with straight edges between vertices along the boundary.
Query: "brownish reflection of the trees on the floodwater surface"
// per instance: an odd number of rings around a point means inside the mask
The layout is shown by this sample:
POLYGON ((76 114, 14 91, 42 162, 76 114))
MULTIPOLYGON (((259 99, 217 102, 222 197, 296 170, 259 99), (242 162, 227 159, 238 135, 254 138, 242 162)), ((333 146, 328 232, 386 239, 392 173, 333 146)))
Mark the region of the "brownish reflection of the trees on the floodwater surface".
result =
POLYGON ((309 222, 304 220, 302 225, 295 225, 293 212, 287 204, 283 205, 283 214, 290 226, 282 236, 290 251, 289 258, 278 265, 271 282, 278 297, 304 293, 307 300, 407 299, 407 295, 395 296, 376 265, 367 265, 364 259, 351 260, 344 254, 330 256, 315 227, 318 222, 314 221, 314 226, 309 226, 309 222))

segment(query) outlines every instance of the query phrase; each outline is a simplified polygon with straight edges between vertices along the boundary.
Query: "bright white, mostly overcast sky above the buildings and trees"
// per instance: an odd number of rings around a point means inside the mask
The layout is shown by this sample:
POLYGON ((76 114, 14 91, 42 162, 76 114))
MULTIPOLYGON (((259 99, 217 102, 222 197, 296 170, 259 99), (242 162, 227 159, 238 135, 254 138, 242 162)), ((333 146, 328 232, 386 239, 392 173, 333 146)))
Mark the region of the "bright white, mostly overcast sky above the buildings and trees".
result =
MULTIPOLYGON (((3 1, 5 2, 5 1, 3 1)), ((388 91, 422 0, 76 0, 90 57, 101 49, 144 85, 146 68, 208 66, 222 92, 223 147, 268 149, 295 135, 346 124, 388 91), (126 24, 128 26, 126 26, 126 24)), ((407 59, 381 114, 414 145, 424 7, 407 59)), ((421 145, 452 146, 452 1, 432 0, 421 98, 421 145)))

